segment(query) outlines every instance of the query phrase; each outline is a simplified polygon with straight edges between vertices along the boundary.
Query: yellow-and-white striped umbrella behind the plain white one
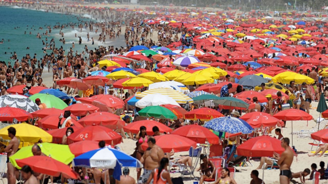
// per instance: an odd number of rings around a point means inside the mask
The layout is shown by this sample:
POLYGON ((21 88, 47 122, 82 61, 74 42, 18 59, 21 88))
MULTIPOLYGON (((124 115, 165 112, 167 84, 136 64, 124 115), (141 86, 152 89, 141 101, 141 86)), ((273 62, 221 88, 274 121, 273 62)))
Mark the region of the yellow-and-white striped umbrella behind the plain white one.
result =
POLYGON ((176 102, 178 103, 193 103, 193 99, 191 99, 190 97, 188 97, 187 95, 181 93, 180 91, 177 91, 175 89, 170 89, 170 88, 155 88, 155 89, 148 89, 142 93, 136 93, 135 94, 135 98, 136 99, 141 99, 143 97, 145 97, 146 95, 149 94, 162 94, 162 95, 166 95, 169 96, 171 98, 173 98, 176 102))

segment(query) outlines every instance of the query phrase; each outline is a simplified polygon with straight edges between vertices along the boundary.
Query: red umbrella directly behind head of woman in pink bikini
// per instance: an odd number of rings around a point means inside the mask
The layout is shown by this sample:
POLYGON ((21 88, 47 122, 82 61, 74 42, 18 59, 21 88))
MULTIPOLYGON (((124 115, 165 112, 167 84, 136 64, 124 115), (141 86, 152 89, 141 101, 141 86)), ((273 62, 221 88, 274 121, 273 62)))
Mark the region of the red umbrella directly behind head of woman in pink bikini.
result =
POLYGON ((133 134, 137 134, 140 131, 140 126, 146 127, 146 133, 148 135, 153 135, 153 127, 157 126, 160 133, 169 133, 172 132, 172 129, 168 126, 166 126, 163 123, 153 121, 153 120, 140 120, 140 121, 134 121, 132 123, 129 123, 128 125, 124 126, 123 129, 126 132, 131 132, 133 134))

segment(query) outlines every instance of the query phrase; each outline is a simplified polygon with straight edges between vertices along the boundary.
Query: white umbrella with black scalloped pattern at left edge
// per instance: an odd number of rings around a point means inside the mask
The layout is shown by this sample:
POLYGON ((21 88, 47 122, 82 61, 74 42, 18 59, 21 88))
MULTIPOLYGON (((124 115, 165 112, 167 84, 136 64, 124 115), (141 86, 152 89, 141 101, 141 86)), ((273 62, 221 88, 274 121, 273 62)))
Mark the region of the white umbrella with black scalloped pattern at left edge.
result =
POLYGON ((23 95, 3 95, 0 97, 0 107, 16 107, 29 113, 39 110, 37 104, 23 95))

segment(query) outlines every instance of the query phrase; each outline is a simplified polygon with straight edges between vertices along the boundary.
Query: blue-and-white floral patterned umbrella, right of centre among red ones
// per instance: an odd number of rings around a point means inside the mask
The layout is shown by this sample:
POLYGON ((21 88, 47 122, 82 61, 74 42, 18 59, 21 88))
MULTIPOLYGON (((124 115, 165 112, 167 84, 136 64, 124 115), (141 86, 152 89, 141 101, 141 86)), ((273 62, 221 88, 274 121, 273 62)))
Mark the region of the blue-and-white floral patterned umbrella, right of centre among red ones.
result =
POLYGON ((242 121, 243 120, 234 117, 220 117, 208 121, 205 123, 204 127, 212 129, 215 132, 228 132, 231 134, 236 134, 239 132, 243 134, 252 133, 254 129, 248 125, 247 122, 242 121))

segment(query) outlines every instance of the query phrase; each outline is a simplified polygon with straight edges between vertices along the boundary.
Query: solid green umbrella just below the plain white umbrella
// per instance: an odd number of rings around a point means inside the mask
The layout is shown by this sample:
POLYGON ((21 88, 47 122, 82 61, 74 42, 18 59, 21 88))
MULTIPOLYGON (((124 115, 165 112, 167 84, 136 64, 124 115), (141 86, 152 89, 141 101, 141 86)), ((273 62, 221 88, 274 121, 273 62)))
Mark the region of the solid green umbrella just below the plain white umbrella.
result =
POLYGON ((176 116, 169 109, 162 106, 148 106, 138 112, 139 116, 154 117, 159 119, 174 119, 176 116))

